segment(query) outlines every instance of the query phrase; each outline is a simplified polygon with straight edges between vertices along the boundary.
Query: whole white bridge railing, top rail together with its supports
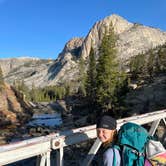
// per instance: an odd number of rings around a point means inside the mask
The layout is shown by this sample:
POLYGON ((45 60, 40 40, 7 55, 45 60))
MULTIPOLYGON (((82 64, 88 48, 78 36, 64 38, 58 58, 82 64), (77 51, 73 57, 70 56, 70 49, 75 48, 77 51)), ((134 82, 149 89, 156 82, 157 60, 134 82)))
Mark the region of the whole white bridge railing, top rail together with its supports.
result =
MULTIPOLYGON (((160 110, 152 113, 142 114, 129 118, 119 119, 118 127, 120 128, 126 122, 134 122, 140 125, 151 123, 149 133, 154 135, 160 121, 166 126, 166 110, 160 110)), ((56 150, 56 159, 54 166, 63 166, 63 150, 66 146, 78 144, 96 138, 96 125, 73 129, 60 133, 53 133, 47 136, 33 138, 25 141, 11 143, 0 146, 0 165, 14 163, 23 159, 37 156, 36 166, 50 166, 50 153, 56 150)), ((94 155, 98 151, 101 142, 96 139, 91 147, 87 157, 82 162, 82 166, 89 166, 94 155)))

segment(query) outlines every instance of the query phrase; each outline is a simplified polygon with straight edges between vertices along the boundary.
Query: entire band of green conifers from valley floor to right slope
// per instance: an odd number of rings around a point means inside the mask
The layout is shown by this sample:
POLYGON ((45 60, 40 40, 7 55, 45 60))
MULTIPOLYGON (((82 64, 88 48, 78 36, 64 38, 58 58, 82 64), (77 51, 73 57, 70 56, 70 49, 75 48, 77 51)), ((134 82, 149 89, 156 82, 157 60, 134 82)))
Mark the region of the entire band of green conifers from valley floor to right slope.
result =
MULTIPOLYGON (((22 91, 26 99, 30 101, 49 102, 75 95, 77 99, 83 101, 84 105, 81 106, 84 109, 82 110, 89 109, 92 114, 101 113, 101 110, 113 110, 115 115, 119 115, 121 113, 119 111, 125 107, 123 99, 128 92, 129 79, 137 81, 148 78, 152 80, 156 75, 166 72, 166 44, 132 57, 128 74, 118 61, 116 42, 117 37, 110 25, 103 34, 99 50, 95 52, 96 50, 91 47, 89 59, 79 58, 80 77, 77 80, 73 78, 71 82, 44 88, 36 88, 32 84, 30 89, 27 88, 24 81, 15 81, 14 86, 17 90, 22 91)), ((0 81, 3 82, 3 79, 0 81)), ((78 111, 76 108, 75 110, 78 111)))

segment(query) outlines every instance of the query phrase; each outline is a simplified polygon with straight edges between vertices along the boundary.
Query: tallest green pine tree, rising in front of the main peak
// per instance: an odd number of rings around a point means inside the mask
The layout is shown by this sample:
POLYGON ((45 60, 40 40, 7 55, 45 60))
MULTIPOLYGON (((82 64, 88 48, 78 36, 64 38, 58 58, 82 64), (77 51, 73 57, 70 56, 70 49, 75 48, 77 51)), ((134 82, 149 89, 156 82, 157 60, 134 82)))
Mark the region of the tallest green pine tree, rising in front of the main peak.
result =
POLYGON ((106 111, 113 109, 118 102, 117 88, 120 88, 125 80, 119 70, 116 55, 116 35, 111 24, 109 30, 105 31, 99 47, 96 76, 97 104, 106 111))

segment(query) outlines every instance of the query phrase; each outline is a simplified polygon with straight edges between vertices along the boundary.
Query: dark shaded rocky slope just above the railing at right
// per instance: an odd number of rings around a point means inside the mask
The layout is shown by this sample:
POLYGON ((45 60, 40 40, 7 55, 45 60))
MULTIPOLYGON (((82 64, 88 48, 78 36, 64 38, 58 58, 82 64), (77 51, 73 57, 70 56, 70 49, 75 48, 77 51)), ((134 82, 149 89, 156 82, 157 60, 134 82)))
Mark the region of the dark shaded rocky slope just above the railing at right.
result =
POLYGON ((125 98, 127 116, 147 113, 166 108, 166 75, 154 78, 153 82, 144 82, 130 91, 125 98))

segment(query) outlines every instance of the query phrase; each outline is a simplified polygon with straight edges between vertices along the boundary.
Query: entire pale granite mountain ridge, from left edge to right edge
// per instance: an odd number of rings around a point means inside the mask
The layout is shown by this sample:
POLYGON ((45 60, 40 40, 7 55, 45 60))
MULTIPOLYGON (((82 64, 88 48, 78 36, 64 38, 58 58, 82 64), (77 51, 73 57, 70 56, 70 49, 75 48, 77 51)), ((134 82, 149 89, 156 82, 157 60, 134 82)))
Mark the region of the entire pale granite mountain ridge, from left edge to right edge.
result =
POLYGON ((7 59, 0 60, 5 80, 24 80, 30 87, 57 85, 75 81, 79 76, 78 57, 87 59, 90 48, 97 51, 103 32, 112 23, 117 34, 118 58, 126 63, 132 56, 166 43, 166 32, 140 24, 130 23, 118 15, 111 15, 94 24, 85 38, 73 38, 66 43, 56 60, 7 59))

